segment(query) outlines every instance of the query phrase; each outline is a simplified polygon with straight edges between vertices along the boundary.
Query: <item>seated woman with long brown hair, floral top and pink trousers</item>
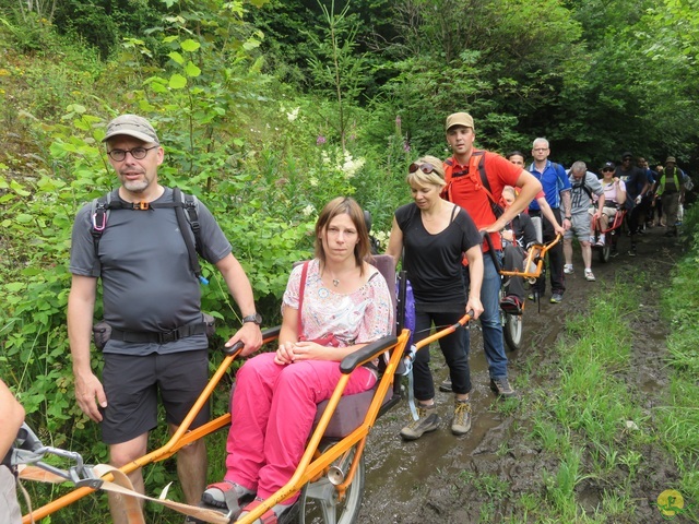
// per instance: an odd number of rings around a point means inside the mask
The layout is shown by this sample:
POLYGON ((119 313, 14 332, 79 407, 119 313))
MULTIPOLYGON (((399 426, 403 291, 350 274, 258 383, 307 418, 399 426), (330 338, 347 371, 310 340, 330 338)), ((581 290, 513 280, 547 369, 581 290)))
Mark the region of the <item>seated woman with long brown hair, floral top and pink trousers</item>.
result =
MULTIPOLYGON (((330 201, 315 233, 316 258, 296 266, 286 285, 279 349, 251 358, 236 376, 226 474, 202 496, 202 505, 222 510, 230 522, 292 478, 317 404, 330 398, 340 381, 340 361, 391 334, 391 291, 368 263, 369 235, 359 205, 344 196, 330 201)), ((374 364, 358 367, 344 394, 368 391, 377 378, 374 364)), ((268 510, 261 522, 277 522, 298 495, 268 510)))

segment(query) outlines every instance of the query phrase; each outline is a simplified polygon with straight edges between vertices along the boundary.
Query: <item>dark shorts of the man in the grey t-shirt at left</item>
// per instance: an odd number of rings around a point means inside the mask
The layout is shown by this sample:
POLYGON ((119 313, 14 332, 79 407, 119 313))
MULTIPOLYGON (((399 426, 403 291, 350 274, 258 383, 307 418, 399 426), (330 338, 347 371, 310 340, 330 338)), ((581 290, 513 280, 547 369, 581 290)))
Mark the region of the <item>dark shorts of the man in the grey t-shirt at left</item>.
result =
MULTIPOLYGON (((158 393, 166 420, 179 425, 209 380, 209 352, 146 356, 105 353, 102 381, 107 407, 102 409, 102 440, 107 444, 128 442, 157 426, 158 393)), ((209 421, 209 403, 191 428, 209 421)))

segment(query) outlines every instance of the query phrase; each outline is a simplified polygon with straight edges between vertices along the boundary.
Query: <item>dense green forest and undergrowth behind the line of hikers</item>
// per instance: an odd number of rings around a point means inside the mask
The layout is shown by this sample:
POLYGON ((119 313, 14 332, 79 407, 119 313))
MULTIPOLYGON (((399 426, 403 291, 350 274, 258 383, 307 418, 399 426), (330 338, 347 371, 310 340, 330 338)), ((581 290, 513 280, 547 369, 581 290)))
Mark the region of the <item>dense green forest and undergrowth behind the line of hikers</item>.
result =
MULTIPOLYGON (((115 183, 100 140, 116 115, 154 123, 163 181, 220 218, 272 325, 317 211, 352 194, 383 238, 410 162, 448 155, 450 112, 471 112, 477 146, 500 153, 546 136, 567 166, 631 151, 696 175, 697 8, 0 0, 0 376, 45 439, 104 460, 72 397, 64 308, 73 216, 115 183)), ((206 272, 204 308, 229 335, 237 312, 206 272)))

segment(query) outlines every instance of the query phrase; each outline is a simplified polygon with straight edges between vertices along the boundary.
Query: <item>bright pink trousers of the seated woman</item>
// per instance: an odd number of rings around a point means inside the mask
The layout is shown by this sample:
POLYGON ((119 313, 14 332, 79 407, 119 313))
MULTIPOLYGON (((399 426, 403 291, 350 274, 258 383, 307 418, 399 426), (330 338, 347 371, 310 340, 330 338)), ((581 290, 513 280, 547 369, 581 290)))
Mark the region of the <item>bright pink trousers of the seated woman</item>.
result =
MULTIPOLYGON (((339 362, 280 366, 274 364, 274 353, 248 360, 237 374, 225 479, 257 490, 264 499, 284 486, 306 450, 316 405, 330 398, 341 374, 339 362)), ((367 391, 376 380, 371 370, 357 368, 344 393, 367 391)))

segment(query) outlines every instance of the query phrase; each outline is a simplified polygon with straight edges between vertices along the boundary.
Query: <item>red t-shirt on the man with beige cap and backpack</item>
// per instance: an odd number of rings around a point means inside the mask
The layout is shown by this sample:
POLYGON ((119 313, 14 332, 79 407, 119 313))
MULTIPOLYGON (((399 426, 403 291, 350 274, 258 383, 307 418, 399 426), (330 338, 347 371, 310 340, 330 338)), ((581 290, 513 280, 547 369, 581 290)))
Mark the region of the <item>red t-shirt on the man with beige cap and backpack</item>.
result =
MULTIPOLYGON (((451 170, 451 172, 454 174, 467 170, 469 168, 469 166, 459 164, 453 156, 450 158, 450 162, 452 166, 445 164, 445 171, 451 170)), ((502 188, 505 186, 516 187, 520 175, 522 175, 521 167, 516 166, 500 155, 487 151, 485 152, 484 168, 495 202, 499 202, 502 198, 502 188)), ((481 174, 477 169, 473 169, 473 171, 475 172, 452 178, 450 194, 451 201, 466 210, 475 223, 476 228, 481 230, 493 224, 496 218, 490 209, 488 194, 483 188, 481 174)), ((499 233, 491 233, 490 240, 495 249, 502 249, 499 233)))

